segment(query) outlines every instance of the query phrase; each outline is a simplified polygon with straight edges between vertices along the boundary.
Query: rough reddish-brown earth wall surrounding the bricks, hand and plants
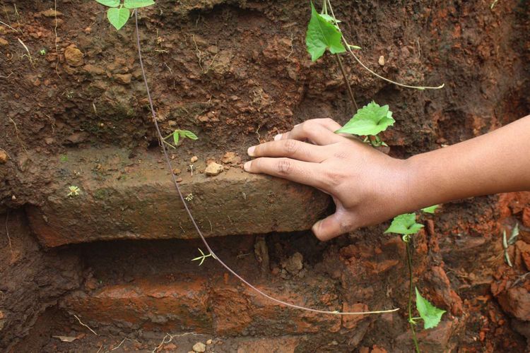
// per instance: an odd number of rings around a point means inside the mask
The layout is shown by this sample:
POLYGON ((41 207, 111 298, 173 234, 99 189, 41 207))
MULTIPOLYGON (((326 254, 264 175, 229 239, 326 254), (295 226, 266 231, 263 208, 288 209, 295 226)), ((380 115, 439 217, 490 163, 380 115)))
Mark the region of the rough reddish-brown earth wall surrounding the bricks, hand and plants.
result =
MULTIPOLYGON (((396 124, 382 136, 391 155, 443 148, 530 112, 529 1, 501 0, 493 9, 482 0, 333 3, 367 66, 404 83, 445 84, 406 90, 343 56, 358 102, 375 100, 394 112, 396 124)), ((160 349, 189 352, 211 339, 207 352, 411 351, 403 310, 337 322, 281 311, 225 280, 215 262, 190 265, 196 240, 40 244, 26 210, 46 205, 57 179, 78 177, 57 167, 66 156, 114 148, 133 160, 160 150, 132 23, 116 32, 95 1, 57 1, 53 8, 51 0, 0 0, 0 349, 148 352, 171 333, 160 349), (74 316, 79 298, 91 303, 107 288, 137 286, 153 275, 204 281, 199 294, 208 319, 200 335, 164 326, 172 322, 164 313, 142 323, 87 315, 98 335, 74 316), (233 304, 226 300, 232 297, 233 304), (237 330, 242 326, 249 330, 237 330)), ((249 145, 311 118, 348 121, 352 109, 336 61, 312 63, 305 52, 308 16, 308 4, 296 0, 158 0, 140 12, 163 132, 199 136, 179 146, 175 164, 195 155, 216 162, 226 152, 245 156, 249 145)), ((530 193, 449 203, 422 221, 415 284, 447 310, 438 328, 420 330, 425 352, 530 349, 530 193), (502 232, 510 236, 516 225, 510 267, 502 232)), ((381 235, 385 226, 326 244, 299 232, 223 237, 212 246, 251 282, 323 309, 404 309, 404 247, 381 235)))

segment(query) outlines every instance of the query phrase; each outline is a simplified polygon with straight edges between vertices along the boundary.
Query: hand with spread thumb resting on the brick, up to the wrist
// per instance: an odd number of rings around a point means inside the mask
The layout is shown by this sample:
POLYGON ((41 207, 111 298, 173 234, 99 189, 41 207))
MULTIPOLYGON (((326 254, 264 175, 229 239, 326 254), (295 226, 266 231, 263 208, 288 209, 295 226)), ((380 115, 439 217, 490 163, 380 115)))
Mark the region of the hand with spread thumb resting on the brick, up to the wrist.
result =
POLYGON ((312 231, 322 241, 408 211, 408 162, 334 131, 331 119, 312 119, 249 148, 245 171, 307 184, 333 197, 336 211, 312 231))

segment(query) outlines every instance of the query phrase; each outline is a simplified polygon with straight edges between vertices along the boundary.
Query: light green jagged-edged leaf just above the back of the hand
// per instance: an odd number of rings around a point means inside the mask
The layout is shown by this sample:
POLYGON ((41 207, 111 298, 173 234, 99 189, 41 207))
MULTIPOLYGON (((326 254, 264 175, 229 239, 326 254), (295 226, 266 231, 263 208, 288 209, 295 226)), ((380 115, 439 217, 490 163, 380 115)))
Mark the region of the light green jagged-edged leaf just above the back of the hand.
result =
POLYGON ((375 136, 387 130, 396 121, 392 119, 392 112, 388 105, 381 107, 376 102, 371 102, 359 109, 357 113, 335 133, 351 133, 358 136, 375 136))

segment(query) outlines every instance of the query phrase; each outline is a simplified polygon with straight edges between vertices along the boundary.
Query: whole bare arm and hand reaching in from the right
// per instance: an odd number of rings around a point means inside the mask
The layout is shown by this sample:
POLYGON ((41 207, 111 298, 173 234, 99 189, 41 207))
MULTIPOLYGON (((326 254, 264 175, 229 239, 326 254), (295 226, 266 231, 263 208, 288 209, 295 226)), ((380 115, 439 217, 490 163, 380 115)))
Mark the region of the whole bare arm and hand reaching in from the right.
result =
POLYGON ((247 172, 314 186, 333 197, 336 212, 312 227, 322 241, 430 205, 530 190, 530 115, 407 160, 337 135, 338 128, 331 119, 305 121, 249 148, 256 159, 245 163, 247 172))

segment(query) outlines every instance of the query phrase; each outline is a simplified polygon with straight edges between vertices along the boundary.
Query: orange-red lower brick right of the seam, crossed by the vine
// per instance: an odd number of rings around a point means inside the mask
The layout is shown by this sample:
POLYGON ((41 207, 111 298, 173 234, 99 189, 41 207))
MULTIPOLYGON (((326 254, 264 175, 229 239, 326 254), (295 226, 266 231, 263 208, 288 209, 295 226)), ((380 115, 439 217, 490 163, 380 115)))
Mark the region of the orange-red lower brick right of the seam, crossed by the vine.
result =
MULTIPOLYGON (((292 304, 334 311, 323 305, 326 292, 333 285, 329 280, 307 279, 305 285, 257 286, 267 294, 292 304)), ((213 285, 211 306, 217 335, 285 335, 337 332, 341 317, 290 309, 262 297, 249 287, 230 281, 213 285)))

